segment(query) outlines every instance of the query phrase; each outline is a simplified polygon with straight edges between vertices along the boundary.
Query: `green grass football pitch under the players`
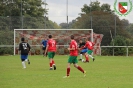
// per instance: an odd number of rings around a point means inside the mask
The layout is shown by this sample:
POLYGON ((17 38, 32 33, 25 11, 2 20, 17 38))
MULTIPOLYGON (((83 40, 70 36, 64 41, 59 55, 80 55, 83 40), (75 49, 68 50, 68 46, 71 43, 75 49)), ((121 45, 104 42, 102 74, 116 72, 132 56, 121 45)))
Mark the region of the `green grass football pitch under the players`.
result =
POLYGON ((86 77, 71 65, 70 78, 64 79, 68 56, 55 56, 53 71, 47 57, 29 56, 31 64, 22 69, 19 56, 0 56, 0 88, 133 88, 133 57, 95 58, 78 63, 86 77))

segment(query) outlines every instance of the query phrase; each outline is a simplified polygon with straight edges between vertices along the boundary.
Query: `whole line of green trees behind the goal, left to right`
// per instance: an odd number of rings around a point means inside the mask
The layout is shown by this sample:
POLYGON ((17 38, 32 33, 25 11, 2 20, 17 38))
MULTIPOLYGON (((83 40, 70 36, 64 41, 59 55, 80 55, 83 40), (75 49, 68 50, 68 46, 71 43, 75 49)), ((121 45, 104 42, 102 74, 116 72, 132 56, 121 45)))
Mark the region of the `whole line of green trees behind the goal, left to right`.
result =
POLYGON ((48 9, 43 8, 43 5, 48 5, 48 3, 42 0, 0 1, 0 35, 4 36, 3 32, 7 30, 6 33, 9 34, 11 41, 5 42, 8 38, 0 39, 0 44, 11 45, 13 43, 13 29, 66 29, 69 27, 70 29, 92 28, 95 33, 103 34, 101 45, 133 45, 133 23, 129 23, 126 19, 121 20, 107 3, 100 5, 97 0, 89 5, 84 4, 79 13, 80 16, 69 24, 60 23, 59 25, 49 20, 46 16, 48 9))

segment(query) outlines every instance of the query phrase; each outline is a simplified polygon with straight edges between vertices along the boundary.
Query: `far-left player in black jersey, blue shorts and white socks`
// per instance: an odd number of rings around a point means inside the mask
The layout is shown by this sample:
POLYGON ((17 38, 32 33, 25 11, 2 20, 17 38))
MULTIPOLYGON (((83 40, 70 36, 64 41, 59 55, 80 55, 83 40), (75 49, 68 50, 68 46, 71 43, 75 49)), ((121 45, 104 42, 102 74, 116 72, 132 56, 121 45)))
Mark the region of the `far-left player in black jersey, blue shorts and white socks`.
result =
POLYGON ((25 38, 21 38, 21 43, 19 44, 19 51, 21 54, 21 61, 23 68, 26 68, 25 61, 28 61, 28 64, 30 64, 30 61, 28 59, 28 53, 30 49, 31 47, 27 42, 25 42, 25 38))

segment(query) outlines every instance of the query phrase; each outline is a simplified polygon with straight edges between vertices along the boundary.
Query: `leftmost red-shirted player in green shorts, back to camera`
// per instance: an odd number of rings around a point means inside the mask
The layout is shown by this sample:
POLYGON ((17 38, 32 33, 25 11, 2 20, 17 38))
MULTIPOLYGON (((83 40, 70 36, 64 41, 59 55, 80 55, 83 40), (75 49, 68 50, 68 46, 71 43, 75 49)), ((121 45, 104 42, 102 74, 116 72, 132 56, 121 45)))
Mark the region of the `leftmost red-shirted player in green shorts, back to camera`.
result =
POLYGON ((47 42, 45 55, 48 52, 49 65, 50 65, 49 70, 53 70, 53 67, 54 67, 54 70, 56 70, 55 62, 53 60, 56 52, 56 41, 52 39, 52 35, 49 35, 48 37, 49 37, 49 40, 47 42))

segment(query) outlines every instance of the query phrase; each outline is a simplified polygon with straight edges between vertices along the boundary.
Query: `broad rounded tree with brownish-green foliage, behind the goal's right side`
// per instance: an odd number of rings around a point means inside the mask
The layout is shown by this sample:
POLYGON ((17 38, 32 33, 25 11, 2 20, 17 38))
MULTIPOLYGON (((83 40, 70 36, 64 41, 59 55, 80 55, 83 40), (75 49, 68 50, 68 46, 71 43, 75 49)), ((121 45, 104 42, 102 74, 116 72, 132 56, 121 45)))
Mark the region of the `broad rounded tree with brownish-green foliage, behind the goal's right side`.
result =
POLYGON ((110 45, 111 35, 113 38, 116 35, 131 38, 129 33, 124 30, 122 21, 113 13, 109 4, 102 4, 100 6, 100 2, 95 1, 91 2, 89 6, 85 4, 81 11, 83 13, 80 17, 77 17, 77 21, 72 27, 78 29, 92 28, 95 33, 103 34, 102 45, 110 45))

